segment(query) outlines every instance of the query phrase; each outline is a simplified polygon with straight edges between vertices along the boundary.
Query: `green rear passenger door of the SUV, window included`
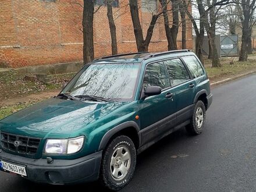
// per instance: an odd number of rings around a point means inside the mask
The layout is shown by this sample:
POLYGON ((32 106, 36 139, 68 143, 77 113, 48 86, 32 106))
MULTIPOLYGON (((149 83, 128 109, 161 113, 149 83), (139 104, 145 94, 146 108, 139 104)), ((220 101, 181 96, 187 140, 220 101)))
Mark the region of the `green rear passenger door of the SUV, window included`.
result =
POLYGON ((170 85, 175 90, 177 124, 190 119, 193 111, 195 81, 180 58, 164 61, 169 73, 170 85))

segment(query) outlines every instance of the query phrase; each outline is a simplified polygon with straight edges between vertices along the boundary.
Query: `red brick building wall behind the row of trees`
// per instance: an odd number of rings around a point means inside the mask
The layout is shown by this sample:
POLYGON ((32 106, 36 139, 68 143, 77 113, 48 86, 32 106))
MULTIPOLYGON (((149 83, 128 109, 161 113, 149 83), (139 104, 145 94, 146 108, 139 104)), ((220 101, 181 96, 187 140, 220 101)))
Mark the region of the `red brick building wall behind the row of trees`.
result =
MULTIPOLYGON (((159 4, 157 0, 152 1, 159 4)), ((113 8, 119 53, 137 51, 127 2, 121 0, 118 7, 113 8)), ((81 62, 82 4, 82 0, 1 0, 0 67, 81 62)), ((140 9, 140 17, 143 32, 147 33, 151 13, 140 9)), ((179 29, 177 44, 181 48, 181 27, 179 29)), ((155 26, 151 41, 150 51, 167 50, 162 17, 155 26)), ((96 58, 111 54, 111 37, 105 6, 94 16, 94 46, 96 58)), ((192 48, 192 28, 189 20, 187 48, 192 48)))

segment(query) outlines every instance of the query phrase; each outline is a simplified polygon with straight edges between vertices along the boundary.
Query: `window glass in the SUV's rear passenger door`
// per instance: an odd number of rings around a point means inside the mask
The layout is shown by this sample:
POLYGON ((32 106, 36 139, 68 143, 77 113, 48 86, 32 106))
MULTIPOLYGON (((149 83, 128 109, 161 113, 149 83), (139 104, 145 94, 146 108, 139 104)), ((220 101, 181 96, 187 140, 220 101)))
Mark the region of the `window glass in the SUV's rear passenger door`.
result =
POLYGON ((190 79, 189 73, 187 73, 187 70, 180 59, 170 59, 164 61, 164 63, 169 73, 170 84, 172 87, 190 79))

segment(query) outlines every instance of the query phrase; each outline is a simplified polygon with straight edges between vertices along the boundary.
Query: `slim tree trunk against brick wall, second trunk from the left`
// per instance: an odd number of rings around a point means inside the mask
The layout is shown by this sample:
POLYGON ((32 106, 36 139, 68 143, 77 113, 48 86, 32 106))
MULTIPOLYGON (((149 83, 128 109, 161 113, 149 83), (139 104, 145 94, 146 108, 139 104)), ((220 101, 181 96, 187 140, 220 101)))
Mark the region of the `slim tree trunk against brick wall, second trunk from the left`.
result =
POLYGON ((111 34, 111 48, 112 48, 112 55, 118 54, 118 42, 116 40, 116 25, 113 19, 113 10, 110 0, 107 1, 107 9, 108 9, 108 23, 109 23, 109 29, 111 34))

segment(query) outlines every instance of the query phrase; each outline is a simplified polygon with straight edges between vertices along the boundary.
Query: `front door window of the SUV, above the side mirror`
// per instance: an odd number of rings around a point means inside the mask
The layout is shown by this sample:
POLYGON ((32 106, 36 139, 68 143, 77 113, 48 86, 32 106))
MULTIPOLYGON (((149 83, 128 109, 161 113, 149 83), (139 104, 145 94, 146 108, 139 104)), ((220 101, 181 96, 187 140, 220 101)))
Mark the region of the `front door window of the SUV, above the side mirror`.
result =
POLYGON ((143 87, 159 86, 162 89, 170 87, 168 73, 166 72, 165 65, 161 63, 151 63, 145 70, 143 79, 143 87))

